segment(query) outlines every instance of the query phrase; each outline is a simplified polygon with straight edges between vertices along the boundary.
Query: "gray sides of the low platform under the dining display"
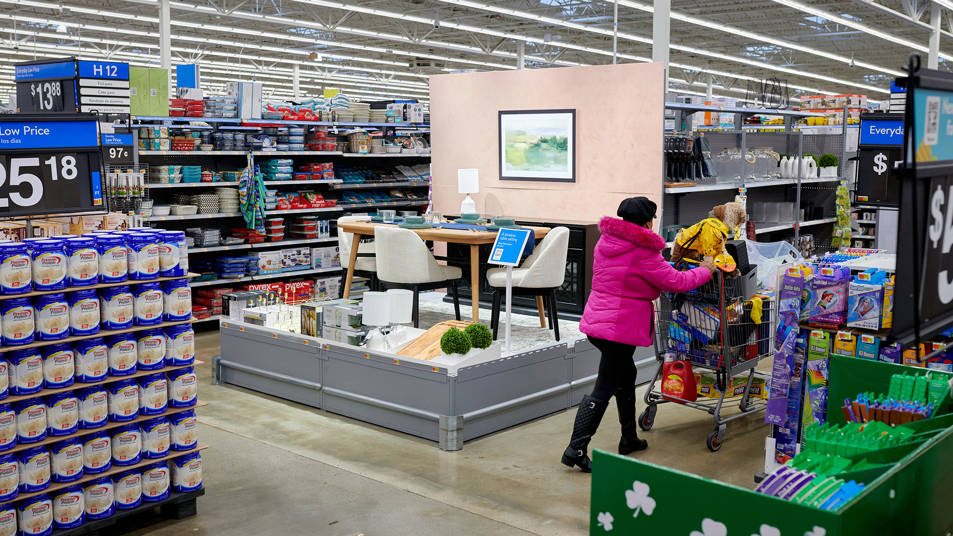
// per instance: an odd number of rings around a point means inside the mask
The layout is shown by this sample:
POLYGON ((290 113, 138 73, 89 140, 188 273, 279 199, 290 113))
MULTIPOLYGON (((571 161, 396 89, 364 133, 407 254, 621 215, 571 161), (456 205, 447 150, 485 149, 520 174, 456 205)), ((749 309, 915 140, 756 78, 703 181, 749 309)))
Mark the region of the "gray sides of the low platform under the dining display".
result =
MULTIPOLYGON (((459 450, 463 442, 574 405, 592 391, 598 350, 584 337, 447 367, 241 322, 222 321, 215 381, 375 423, 459 450)), ((639 383, 655 374, 636 355, 639 383)))

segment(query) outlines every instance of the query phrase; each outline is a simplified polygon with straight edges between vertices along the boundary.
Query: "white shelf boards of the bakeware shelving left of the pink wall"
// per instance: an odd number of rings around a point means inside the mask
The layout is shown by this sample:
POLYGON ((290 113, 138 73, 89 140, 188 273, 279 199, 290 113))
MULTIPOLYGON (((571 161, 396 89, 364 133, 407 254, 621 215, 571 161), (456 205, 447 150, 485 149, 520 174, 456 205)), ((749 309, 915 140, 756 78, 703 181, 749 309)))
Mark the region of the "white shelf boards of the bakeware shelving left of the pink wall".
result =
MULTIPOLYGON (((162 117, 162 116, 132 116, 133 123, 141 123, 146 125, 150 122, 160 122, 168 124, 169 126, 175 128, 205 128, 205 129, 221 129, 221 130, 231 130, 231 131, 248 131, 254 130, 263 126, 282 126, 282 125, 300 125, 300 126, 311 126, 311 125, 321 125, 329 127, 330 134, 341 134, 346 130, 355 128, 355 127, 372 127, 374 129, 385 130, 385 127, 393 128, 395 131, 400 129, 405 132, 413 131, 414 134, 429 133, 430 125, 429 124, 410 124, 410 123, 356 123, 356 122, 327 122, 327 121, 287 121, 287 120, 272 120, 272 119, 253 119, 253 120, 241 120, 233 118, 221 118, 221 117, 162 117), (204 122, 211 126, 193 126, 189 123, 193 122, 204 122)), ((133 126, 137 126, 133 124, 133 126)), ((390 130, 390 129, 386 129, 390 130)), ((399 132, 399 131, 396 131, 399 132)), ((340 151, 139 151, 139 156, 142 160, 153 165, 159 163, 169 163, 169 164, 183 164, 183 165, 202 165, 205 168, 212 169, 235 169, 242 168, 247 163, 253 162, 255 158, 294 158, 295 165, 298 164, 298 158, 303 162, 308 161, 333 161, 335 163, 341 163, 345 167, 358 167, 361 165, 369 165, 370 162, 374 162, 375 165, 398 165, 398 162, 402 164, 408 158, 411 161, 407 165, 415 165, 420 161, 427 162, 430 158, 430 153, 398 153, 398 154, 352 154, 352 153, 343 153, 340 151), (303 158, 312 158, 303 159, 303 158), (345 160, 346 158, 346 160, 345 160), (368 164, 363 164, 363 161, 367 161, 368 164), (344 164, 343 162, 347 162, 344 164), (219 167, 224 166, 224 167, 219 167)), ((367 191, 370 189, 388 189, 388 188, 425 188, 430 186, 429 181, 415 181, 415 180, 402 180, 402 181, 391 181, 391 182, 368 182, 368 183, 349 183, 341 179, 321 179, 321 180, 266 180, 264 181, 266 188, 274 188, 280 192, 284 190, 294 191, 294 187, 300 187, 300 189, 307 190, 319 190, 323 192, 343 192, 348 190, 355 191, 367 191)), ((214 187, 229 186, 237 187, 239 183, 237 181, 227 181, 227 182, 197 182, 197 183, 173 183, 173 184, 149 184, 148 190, 151 193, 151 196, 157 195, 171 195, 172 192, 180 193, 189 193, 194 188, 205 188, 211 190, 214 187), (170 190, 172 189, 172 190, 170 190), (169 194, 166 194, 169 193, 169 194)), ((422 195, 415 191, 415 194, 418 196, 413 198, 408 198, 407 200, 390 200, 390 201, 380 201, 380 202, 366 202, 366 203, 348 203, 341 202, 338 200, 334 207, 322 207, 322 208, 308 208, 308 209, 287 209, 287 210, 267 210, 264 211, 266 216, 294 216, 294 215, 316 215, 323 216, 327 215, 328 219, 335 219, 337 215, 349 212, 349 211, 360 211, 360 210, 373 210, 375 208, 399 208, 399 207, 408 207, 408 210, 412 207, 426 206, 430 201, 427 198, 427 193, 424 192, 422 195)), ((327 194, 325 194, 327 195, 327 194)), ((148 220, 153 224, 158 224, 160 227, 164 227, 171 230, 182 230, 192 227, 217 227, 222 230, 222 236, 228 236, 228 229, 233 227, 246 227, 247 223, 244 221, 243 215, 241 213, 215 213, 215 214, 195 214, 195 215, 169 215, 169 216, 150 216, 148 220)), ((221 252, 233 252, 241 250, 268 250, 276 248, 291 247, 293 245, 310 245, 314 244, 315 247, 320 247, 321 245, 334 245, 336 242, 336 237, 329 238, 292 238, 290 237, 291 229, 286 229, 286 237, 289 239, 277 240, 274 242, 262 242, 256 244, 234 244, 234 245, 219 245, 211 247, 193 247, 190 248, 189 253, 191 255, 203 256, 204 254, 215 254, 221 252)), ((334 231, 332 231, 334 235, 334 231)), ((240 255, 240 253, 239 253, 240 255)), ((193 281, 192 286, 213 286, 213 285, 228 285, 235 284, 240 282, 248 281, 258 281, 262 279, 281 279, 281 278, 296 278, 301 276, 310 276, 315 274, 338 274, 340 273, 339 267, 331 268, 319 268, 319 269, 310 269, 310 270, 294 270, 288 272, 281 272, 278 274, 269 274, 264 276, 246 276, 243 278, 215 278, 212 280, 205 281, 193 281)), ((213 315, 208 319, 202 320, 217 320, 218 316, 213 315)))

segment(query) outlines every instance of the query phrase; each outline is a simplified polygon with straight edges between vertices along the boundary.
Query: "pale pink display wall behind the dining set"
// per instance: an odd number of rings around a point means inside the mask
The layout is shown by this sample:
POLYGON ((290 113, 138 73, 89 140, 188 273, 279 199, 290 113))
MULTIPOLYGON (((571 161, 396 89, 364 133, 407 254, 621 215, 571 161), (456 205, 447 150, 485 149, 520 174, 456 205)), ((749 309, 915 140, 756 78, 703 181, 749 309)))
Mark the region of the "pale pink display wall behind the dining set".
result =
MULTIPOLYGON (((662 64, 430 77, 435 210, 459 213, 456 170, 477 168, 483 215, 598 220, 625 197, 661 206, 662 64), (576 182, 499 180, 500 110, 576 109, 576 182)), ((660 211, 659 211, 660 212, 660 211)))

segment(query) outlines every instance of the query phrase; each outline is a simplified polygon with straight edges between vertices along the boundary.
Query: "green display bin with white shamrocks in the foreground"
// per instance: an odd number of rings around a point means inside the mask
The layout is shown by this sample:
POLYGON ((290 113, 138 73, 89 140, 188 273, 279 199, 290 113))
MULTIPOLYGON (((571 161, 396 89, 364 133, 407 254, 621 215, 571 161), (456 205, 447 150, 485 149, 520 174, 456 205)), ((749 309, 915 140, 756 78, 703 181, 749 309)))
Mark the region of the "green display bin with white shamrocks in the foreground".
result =
MULTIPOLYGON (((840 403, 885 392, 890 377, 922 371, 831 356, 828 415, 842 425, 840 403)), ((930 371, 951 377, 948 373, 930 371)), ((593 454, 589 533, 683 536, 938 536, 953 529, 953 416, 915 425, 926 439, 852 456, 881 464, 839 478, 866 484, 837 511, 798 505, 601 450, 593 454)), ((906 424, 904 424, 906 425, 906 424)), ((712 454, 719 457, 721 454, 712 454)), ((713 463, 729 463, 720 460, 713 463)))

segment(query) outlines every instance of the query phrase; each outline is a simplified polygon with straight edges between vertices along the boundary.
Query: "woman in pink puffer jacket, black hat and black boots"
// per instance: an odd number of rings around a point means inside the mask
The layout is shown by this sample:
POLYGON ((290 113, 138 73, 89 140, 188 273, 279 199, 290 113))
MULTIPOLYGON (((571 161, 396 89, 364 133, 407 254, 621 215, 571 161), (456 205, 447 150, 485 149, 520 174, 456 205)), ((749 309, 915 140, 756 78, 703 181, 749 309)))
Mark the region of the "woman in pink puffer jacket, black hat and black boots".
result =
POLYGON ((599 223, 593 265, 592 293, 579 322, 579 331, 600 352, 598 378, 591 395, 582 397, 573 438, 562 463, 592 470, 587 448, 609 399, 616 397, 622 438, 618 453, 648 448, 636 431, 636 346, 651 346, 654 332, 652 302, 662 292, 685 292, 707 282, 716 270, 711 261, 679 272, 661 257, 665 240, 652 232, 656 204, 646 197, 629 197, 618 205, 618 216, 599 223))

